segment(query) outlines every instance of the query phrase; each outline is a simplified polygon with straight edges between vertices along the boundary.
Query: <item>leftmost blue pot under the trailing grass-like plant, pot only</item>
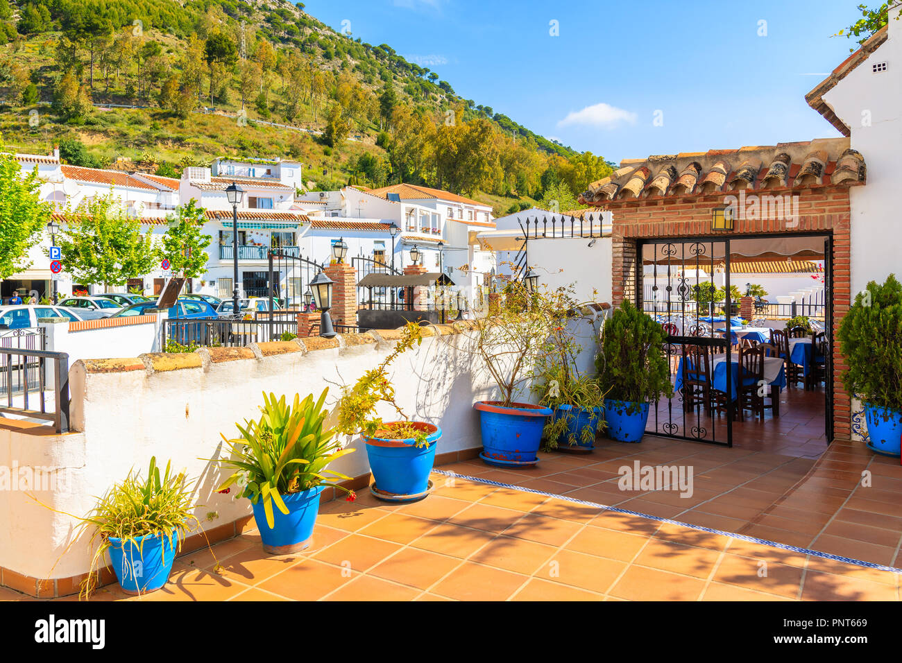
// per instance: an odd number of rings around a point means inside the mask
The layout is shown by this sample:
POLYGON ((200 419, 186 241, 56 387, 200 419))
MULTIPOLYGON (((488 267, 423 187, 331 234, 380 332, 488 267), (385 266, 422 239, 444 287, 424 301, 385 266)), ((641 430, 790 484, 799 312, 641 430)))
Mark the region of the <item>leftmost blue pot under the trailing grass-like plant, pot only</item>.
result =
POLYGON ((135 542, 110 537, 110 564, 125 594, 144 594, 166 585, 179 547, 178 532, 172 538, 147 535, 135 542))

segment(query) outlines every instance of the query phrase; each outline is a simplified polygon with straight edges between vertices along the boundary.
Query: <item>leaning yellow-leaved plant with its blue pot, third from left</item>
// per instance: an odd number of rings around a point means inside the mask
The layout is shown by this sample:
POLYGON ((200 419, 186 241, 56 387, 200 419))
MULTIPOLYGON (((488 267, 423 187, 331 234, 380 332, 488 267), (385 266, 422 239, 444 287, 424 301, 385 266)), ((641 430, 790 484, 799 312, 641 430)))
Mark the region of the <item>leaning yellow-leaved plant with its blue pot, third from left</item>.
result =
POLYGON ((370 491, 390 502, 413 502, 428 495, 429 473, 436 460, 442 430, 425 421, 411 421, 395 401, 388 368, 413 345, 422 342, 422 329, 415 322, 402 328, 391 354, 364 373, 353 387, 345 387, 338 401, 337 430, 345 435, 361 434, 373 472, 370 491), (400 419, 383 421, 376 406, 388 403, 400 419))

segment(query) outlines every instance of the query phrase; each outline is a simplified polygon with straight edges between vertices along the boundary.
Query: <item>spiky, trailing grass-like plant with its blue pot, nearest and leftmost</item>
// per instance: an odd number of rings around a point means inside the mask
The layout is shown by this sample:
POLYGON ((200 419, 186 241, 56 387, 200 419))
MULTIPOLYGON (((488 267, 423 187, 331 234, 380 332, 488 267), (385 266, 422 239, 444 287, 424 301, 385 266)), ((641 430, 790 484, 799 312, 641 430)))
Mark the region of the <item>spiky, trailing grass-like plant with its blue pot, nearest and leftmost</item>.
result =
POLYGON ((125 594, 153 592, 165 585, 182 541, 200 528, 192 513, 191 492, 185 474, 172 474, 170 463, 161 476, 154 456, 146 477, 129 472, 85 518, 72 516, 79 520, 78 528, 94 528, 89 545, 99 539, 79 596, 87 599, 97 589, 106 553, 125 594))

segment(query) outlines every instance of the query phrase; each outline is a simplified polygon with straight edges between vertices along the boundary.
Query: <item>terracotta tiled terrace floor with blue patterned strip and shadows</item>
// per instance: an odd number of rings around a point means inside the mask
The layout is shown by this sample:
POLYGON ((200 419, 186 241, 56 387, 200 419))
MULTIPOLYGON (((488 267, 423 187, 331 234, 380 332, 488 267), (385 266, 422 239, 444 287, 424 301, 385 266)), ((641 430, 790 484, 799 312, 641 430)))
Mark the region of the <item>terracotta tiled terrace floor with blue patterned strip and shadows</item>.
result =
MULTIPOLYGON (((846 511, 851 520, 828 520, 823 534, 805 539, 819 550, 816 544, 830 543, 830 537, 848 541, 842 523, 855 524, 852 511, 858 511, 879 520, 860 527, 883 536, 895 531, 898 539, 902 518, 887 513, 882 520, 879 514, 902 493, 902 466, 856 449, 832 447, 807 477, 814 463, 809 459, 657 437, 640 445, 600 442, 589 456, 543 454, 537 468, 516 473, 478 460, 444 465, 439 469, 445 473, 514 487, 433 474, 435 493, 407 505, 378 502, 364 490, 357 502, 323 505, 313 546, 302 554, 267 556, 253 529, 247 530, 213 548, 221 575, 213 572, 209 551, 194 552, 177 559, 169 585, 140 600, 897 600, 899 576, 889 571, 519 490, 617 504, 714 529, 746 528, 751 536, 790 544, 780 533, 799 532, 812 521, 801 511, 846 511), (616 472, 634 460, 692 465, 693 497, 620 491, 616 472), (874 474, 874 488, 851 485, 864 465, 874 474), (888 479, 892 483, 884 485, 888 479), (847 501, 836 502, 841 495, 833 489, 844 491, 847 501), (781 495, 786 497, 778 500, 781 495), (768 518, 793 522, 778 529, 764 524, 768 518), (760 527, 769 529, 754 529, 760 527)), ((848 544, 842 555, 875 561, 869 540, 848 544)), ((885 546, 894 550, 889 561, 895 561, 898 543, 885 546)), ((0 590, 0 598, 13 596, 0 590)), ((96 598, 136 600, 115 585, 96 598)))

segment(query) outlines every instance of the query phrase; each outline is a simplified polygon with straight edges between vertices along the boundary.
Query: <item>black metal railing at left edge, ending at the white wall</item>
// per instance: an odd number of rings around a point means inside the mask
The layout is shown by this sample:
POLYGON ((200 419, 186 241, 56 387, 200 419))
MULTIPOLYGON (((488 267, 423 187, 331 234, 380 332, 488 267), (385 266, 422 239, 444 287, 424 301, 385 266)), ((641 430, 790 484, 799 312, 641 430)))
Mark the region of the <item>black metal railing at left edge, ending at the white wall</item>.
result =
POLYGON ((69 431, 69 355, 0 347, 0 415, 4 414, 52 421, 56 432, 69 431), (52 403, 47 400, 49 385, 52 403))

